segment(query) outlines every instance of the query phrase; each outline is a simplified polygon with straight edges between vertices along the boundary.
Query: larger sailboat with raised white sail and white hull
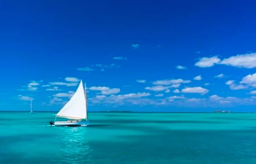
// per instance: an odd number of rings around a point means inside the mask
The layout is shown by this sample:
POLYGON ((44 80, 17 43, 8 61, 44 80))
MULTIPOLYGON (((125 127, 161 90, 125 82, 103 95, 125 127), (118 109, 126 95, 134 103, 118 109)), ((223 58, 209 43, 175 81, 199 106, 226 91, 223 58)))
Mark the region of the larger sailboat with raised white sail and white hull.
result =
POLYGON ((64 105, 62 109, 55 115, 54 122, 50 122, 50 125, 55 126, 87 126, 89 121, 87 120, 87 96, 86 86, 83 87, 81 80, 75 94, 64 105), (67 121, 56 121, 57 117, 68 119, 67 121))

